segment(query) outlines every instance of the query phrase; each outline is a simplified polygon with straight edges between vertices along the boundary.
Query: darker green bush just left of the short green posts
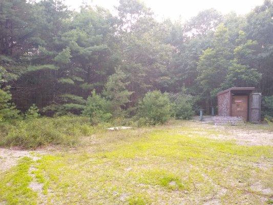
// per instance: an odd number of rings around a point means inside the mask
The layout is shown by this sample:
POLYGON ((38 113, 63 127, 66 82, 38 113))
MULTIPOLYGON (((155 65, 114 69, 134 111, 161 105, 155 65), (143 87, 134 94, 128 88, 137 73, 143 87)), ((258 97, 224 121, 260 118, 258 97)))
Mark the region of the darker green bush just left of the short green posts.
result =
POLYGON ((174 99, 174 116, 176 119, 191 119, 194 115, 191 95, 179 94, 174 99))

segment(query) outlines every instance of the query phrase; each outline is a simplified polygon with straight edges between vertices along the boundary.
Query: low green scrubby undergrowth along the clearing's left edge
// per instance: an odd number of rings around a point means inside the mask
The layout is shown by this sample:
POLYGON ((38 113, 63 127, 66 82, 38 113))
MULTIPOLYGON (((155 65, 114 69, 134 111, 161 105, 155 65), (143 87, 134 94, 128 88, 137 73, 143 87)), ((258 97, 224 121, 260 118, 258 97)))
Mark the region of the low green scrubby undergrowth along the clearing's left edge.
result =
POLYGON ((49 144, 74 146, 80 136, 91 135, 94 130, 88 118, 78 116, 20 120, 2 129, 5 134, 0 139, 0 146, 27 149, 49 144))

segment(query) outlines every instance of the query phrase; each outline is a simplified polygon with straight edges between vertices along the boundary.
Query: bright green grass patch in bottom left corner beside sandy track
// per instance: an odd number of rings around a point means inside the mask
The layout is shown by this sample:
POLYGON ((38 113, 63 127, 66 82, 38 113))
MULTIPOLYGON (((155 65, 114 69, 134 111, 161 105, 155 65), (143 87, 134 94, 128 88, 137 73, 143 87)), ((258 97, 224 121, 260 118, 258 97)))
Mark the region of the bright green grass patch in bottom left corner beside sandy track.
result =
POLYGON ((37 193, 29 188, 32 180, 28 170, 33 161, 29 157, 19 160, 4 178, 0 177, 0 203, 7 204, 36 204, 37 193))

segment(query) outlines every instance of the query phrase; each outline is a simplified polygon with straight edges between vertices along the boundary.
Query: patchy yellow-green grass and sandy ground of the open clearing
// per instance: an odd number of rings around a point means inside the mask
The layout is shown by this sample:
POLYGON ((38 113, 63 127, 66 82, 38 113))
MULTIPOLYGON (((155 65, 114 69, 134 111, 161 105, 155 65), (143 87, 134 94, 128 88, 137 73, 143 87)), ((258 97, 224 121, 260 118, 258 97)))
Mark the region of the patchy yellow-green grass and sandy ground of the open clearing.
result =
MULTIPOLYGON (((44 184, 45 204, 266 204, 272 200, 272 147, 208 138, 223 133, 229 134, 186 121, 97 132, 85 146, 31 163, 44 184)), ((15 174, 12 169, 0 180, 7 184, 15 174)), ((26 187, 28 177, 22 180, 26 187)), ((18 201, 39 197, 7 187, 0 192, 7 204, 10 195, 18 201)))

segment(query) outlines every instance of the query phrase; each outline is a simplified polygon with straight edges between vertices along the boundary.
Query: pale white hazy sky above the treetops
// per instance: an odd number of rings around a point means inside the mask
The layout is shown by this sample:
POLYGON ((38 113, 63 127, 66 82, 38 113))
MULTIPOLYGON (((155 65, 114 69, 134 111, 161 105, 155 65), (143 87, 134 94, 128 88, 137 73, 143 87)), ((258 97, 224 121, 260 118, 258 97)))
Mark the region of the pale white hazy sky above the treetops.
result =
MULTIPOLYGON (((99 5, 111 11, 118 5, 118 0, 84 0, 91 5, 99 5)), ((215 8, 226 14, 235 11, 238 14, 245 14, 255 6, 261 5, 264 0, 143 0, 146 6, 150 7, 157 19, 171 18, 182 20, 195 16, 199 11, 215 8)), ((82 0, 65 0, 71 9, 76 9, 82 0)))

